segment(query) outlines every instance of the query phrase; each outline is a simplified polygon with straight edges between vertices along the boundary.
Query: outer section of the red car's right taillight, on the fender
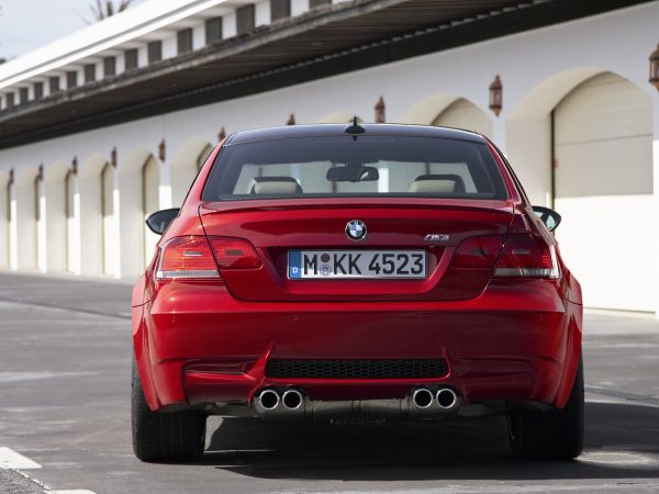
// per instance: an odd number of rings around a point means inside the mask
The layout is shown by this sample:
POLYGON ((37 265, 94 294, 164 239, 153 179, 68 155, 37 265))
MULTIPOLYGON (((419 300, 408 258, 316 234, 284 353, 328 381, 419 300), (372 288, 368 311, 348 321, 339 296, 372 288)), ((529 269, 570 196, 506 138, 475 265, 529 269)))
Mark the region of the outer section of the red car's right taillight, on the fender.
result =
POLYGON ((556 248, 539 235, 509 235, 494 276, 557 279, 559 271, 556 248))

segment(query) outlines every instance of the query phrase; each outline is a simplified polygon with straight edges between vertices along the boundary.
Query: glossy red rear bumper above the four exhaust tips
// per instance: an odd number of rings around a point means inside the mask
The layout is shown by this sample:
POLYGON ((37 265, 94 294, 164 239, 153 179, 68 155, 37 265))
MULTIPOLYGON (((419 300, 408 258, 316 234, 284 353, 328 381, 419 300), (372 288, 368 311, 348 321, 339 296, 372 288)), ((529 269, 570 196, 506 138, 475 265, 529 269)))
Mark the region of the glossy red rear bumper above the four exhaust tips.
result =
MULTIPOLYGON (((166 405, 249 403, 264 386, 312 400, 405 396, 445 384, 466 404, 563 406, 581 348, 581 306, 544 281, 491 284, 459 302, 254 303, 224 287, 170 283, 144 305, 134 332, 145 394, 166 405), (268 359, 436 359, 434 379, 273 379, 268 359)), ((137 315, 137 314, 136 314, 137 315)))

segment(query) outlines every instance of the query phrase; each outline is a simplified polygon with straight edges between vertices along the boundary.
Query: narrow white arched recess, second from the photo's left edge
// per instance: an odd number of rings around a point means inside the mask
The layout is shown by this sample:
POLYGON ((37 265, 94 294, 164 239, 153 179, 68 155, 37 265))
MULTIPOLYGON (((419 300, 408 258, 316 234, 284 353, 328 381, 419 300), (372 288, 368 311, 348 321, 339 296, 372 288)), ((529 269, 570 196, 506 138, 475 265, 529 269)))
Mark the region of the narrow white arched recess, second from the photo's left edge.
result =
MULTIPOLYGON (((37 268, 36 207, 34 181, 36 169, 26 167, 18 172, 12 191, 12 224, 15 225, 15 245, 12 246, 19 270, 37 268)), ((12 226, 13 226, 12 225, 12 226)))

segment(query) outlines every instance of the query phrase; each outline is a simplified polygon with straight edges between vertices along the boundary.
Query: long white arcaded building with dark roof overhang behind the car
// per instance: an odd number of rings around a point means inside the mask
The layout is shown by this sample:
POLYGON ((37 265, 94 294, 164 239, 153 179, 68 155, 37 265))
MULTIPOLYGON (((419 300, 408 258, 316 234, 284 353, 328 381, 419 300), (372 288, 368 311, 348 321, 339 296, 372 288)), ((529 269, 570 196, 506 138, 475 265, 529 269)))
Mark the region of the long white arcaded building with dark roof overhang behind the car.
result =
POLYGON ((585 304, 659 313, 659 1, 459 3, 149 0, 0 65, 0 268, 135 278, 223 135, 357 115, 491 137, 585 304))

